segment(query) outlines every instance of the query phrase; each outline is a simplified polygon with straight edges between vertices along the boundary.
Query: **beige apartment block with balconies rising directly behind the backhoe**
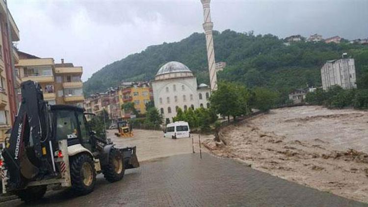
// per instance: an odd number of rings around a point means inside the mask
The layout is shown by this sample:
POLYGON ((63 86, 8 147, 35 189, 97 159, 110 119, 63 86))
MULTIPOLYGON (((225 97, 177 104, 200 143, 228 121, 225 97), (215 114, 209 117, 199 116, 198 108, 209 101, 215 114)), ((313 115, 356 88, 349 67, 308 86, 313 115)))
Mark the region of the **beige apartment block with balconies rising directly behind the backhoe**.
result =
POLYGON ((44 99, 50 104, 82 106, 82 67, 73 63, 54 62, 53 58, 40 58, 26 52, 18 52, 19 62, 16 73, 22 82, 33 80, 40 83, 44 99))

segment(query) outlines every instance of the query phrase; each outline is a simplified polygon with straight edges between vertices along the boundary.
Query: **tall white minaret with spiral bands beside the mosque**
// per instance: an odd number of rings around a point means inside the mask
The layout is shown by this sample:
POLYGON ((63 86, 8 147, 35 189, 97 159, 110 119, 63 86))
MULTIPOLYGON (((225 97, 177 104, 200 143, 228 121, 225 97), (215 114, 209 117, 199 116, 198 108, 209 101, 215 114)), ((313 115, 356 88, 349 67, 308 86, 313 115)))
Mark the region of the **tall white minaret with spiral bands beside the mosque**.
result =
POLYGON ((217 75, 216 75, 215 54, 213 48, 213 36, 212 36, 213 23, 211 21, 210 1, 211 0, 201 0, 204 15, 203 29, 205 30, 206 33, 207 60, 208 60, 208 68, 210 71, 210 87, 211 91, 215 91, 217 90, 217 75))

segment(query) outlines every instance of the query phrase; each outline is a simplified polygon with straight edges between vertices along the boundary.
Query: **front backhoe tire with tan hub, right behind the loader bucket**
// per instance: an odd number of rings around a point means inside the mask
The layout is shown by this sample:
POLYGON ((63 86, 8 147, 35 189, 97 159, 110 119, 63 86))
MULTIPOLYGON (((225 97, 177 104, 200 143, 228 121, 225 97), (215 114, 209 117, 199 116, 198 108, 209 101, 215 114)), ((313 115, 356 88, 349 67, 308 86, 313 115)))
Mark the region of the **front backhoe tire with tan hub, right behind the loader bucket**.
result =
POLYGON ((119 150, 111 148, 108 163, 102 168, 104 177, 109 182, 120 181, 124 177, 124 159, 119 150))

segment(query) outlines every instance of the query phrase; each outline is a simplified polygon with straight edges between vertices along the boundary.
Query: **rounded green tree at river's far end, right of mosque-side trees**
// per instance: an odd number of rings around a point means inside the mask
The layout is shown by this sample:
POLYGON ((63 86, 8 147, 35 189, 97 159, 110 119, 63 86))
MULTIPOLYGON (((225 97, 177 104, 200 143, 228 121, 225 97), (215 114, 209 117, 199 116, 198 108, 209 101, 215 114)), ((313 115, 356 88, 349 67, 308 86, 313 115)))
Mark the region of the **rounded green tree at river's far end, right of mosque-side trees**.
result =
POLYGON ((268 111, 271 109, 278 98, 276 92, 271 91, 267 88, 255 88, 255 100, 254 100, 254 107, 261 110, 261 111, 268 111))

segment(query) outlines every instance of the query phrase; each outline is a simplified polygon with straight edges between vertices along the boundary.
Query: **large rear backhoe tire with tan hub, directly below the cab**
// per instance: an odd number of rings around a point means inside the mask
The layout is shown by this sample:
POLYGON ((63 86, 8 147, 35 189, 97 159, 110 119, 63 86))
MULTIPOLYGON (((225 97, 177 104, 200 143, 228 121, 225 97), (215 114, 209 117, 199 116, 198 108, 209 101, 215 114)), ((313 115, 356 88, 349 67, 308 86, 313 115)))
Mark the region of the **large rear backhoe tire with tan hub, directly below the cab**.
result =
POLYGON ((70 177, 72 190, 78 195, 93 191, 96 184, 95 163, 87 154, 75 155, 71 159, 70 177))

